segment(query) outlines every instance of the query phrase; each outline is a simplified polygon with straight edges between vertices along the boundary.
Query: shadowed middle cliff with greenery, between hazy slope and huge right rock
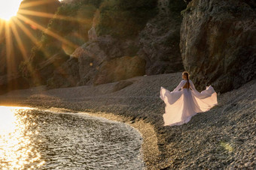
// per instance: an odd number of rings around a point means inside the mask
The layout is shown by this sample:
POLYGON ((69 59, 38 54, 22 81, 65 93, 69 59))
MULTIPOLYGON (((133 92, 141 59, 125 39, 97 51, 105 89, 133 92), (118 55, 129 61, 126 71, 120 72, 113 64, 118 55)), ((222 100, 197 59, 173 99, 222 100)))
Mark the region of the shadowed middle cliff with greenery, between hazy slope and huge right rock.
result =
MULTIPOLYGON (((80 79, 76 79, 77 85, 99 85, 133 76, 173 73, 184 69, 178 46, 182 19, 180 12, 186 7, 183 1, 159 0, 158 14, 148 20, 145 28, 142 29, 140 27, 144 23, 138 26, 138 21, 131 11, 136 12, 135 9, 146 7, 145 2, 142 4, 136 2, 134 9, 109 3, 102 4, 99 10, 96 10, 92 23, 93 28, 96 27, 93 39, 78 47, 71 55, 72 58, 78 58, 78 62, 72 63, 72 65, 76 64, 79 70, 80 79), (122 17, 117 17, 117 11, 113 10, 113 7, 117 9, 120 7, 122 15, 128 15, 132 19, 124 21, 122 17), (114 16, 109 16, 108 13, 113 13, 114 16), (114 24, 109 19, 114 19, 114 24), (133 25, 134 28, 129 30, 125 28, 127 25, 133 25), (139 34, 135 34, 140 29, 139 34)), ((130 2, 126 3, 132 5, 130 2)), ((151 1, 151 7, 154 8, 153 4, 151 1)), ((151 7, 147 9, 154 11, 151 7)), ((142 12, 138 15, 142 15, 142 12)), ((147 15, 146 13, 143 17, 148 19, 147 15)), ((88 33, 90 34, 90 31, 88 33)), ((62 79, 61 77, 63 75, 55 73, 55 79, 62 79)), ((66 81, 58 85, 66 87, 66 81)))

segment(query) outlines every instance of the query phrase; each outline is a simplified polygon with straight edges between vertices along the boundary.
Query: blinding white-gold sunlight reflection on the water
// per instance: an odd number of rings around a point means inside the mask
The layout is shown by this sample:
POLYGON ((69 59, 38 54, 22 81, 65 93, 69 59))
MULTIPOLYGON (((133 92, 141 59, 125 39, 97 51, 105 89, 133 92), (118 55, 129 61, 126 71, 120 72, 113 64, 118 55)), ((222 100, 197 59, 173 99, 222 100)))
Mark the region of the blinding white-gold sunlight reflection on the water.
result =
POLYGON ((29 109, 0 106, 0 169, 33 169, 44 164, 31 142, 32 133, 26 134, 30 124, 23 121, 26 115, 17 114, 29 109))

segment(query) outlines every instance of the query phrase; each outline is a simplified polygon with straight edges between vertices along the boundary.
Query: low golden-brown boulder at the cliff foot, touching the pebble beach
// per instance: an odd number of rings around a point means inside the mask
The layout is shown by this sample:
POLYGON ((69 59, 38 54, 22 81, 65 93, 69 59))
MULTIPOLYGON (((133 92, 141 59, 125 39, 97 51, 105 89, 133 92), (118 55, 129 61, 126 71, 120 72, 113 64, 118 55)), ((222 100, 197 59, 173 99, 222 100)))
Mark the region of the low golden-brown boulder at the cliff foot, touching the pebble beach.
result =
POLYGON ((122 58, 114 58, 111 61, 104 61, 99 68, 99 72, 93 79, 93 84, 100 85, 109 82, 118 82, 134 76, 143 76, 144 74, 144 59, 138 56, 124 56, 122 58))

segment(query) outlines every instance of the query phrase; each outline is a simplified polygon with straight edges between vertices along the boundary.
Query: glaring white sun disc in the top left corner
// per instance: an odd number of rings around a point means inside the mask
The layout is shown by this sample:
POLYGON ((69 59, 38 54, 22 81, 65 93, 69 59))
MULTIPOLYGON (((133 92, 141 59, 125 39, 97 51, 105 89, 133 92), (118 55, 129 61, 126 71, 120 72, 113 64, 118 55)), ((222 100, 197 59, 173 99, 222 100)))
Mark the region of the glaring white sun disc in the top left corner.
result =
POLYGON ((20 7, 20 2, 23 0, 7 0, 0 1, 0 18, 6 21, 10 20, 12 16, 17 15, 20 7))

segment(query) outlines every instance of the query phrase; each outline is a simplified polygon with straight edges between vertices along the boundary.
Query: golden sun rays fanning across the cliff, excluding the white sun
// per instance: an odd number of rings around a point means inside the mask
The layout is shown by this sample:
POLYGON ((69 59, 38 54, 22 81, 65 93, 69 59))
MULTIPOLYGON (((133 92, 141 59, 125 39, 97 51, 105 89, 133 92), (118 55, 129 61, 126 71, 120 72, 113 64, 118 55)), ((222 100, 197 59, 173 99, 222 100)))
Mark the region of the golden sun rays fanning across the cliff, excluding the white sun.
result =
MULTIPOLYGON (((10 20, 0 19, 0 43, 2 40, 5 41, 5 49, 2 47, 2 52, 5 52, 6 72, 8 76, 19 73, 17 68, 18 61, 16 61, 17 52, 14 52, 14 49, 19 50, 20 58, 22 58, 23 61, 29 61, 31 49, 26 47, 27 42, 24 41, 23 37, 26 37, 29 41, 31 41, 34 46, 40 43, 41 36, 39 37, 36 35, 33 30, 41 31, 43 34, 53 37, 62 44, 61 46, 69 46, 72 47, 72 49, 78 48, 77 44, 72 43, 70 40, 62 37, 62 35, 59 35, 57 31, 53 30, 53 28, 47 28, 47 25, 42 25, 38 21, 44 18, 54 18, 88 24, 91 22, 90 19, 81 19, 79 17, 62 16, 54 13, 29 10, 31 7, 40 7, 40 5, 50 2, 52 2, 52 0, 25 1, 20 4, 20 10, 18 11, 17 16, 12 17, 10 20), (35 18, 38 18, 39 20, 35 18)), ((32 70, 29 69, 29 72, 30 71, 32 70)), ((65 74, 65 70, 61 70, 61 72, 65 74)), ((32 79, 37 76, 36 73, 30 74, 32 79)))

